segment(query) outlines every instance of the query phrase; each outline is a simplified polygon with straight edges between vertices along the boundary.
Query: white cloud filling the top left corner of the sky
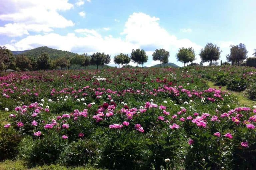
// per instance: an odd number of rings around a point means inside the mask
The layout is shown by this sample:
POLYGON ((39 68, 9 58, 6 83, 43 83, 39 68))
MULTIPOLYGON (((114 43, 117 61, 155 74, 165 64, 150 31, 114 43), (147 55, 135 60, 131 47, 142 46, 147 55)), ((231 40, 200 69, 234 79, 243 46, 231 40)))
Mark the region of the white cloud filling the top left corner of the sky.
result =
POLYGON ((61 16, 58 11, 73 8, 68 0, 0 0, 0 20, 11 23, 1 27, 1 34, 10 37, 28 35, 33 32, 50 32, 52 28, 74 26, 74 23, 61 16), (16 33, 9 33, 8 29, 16 33))

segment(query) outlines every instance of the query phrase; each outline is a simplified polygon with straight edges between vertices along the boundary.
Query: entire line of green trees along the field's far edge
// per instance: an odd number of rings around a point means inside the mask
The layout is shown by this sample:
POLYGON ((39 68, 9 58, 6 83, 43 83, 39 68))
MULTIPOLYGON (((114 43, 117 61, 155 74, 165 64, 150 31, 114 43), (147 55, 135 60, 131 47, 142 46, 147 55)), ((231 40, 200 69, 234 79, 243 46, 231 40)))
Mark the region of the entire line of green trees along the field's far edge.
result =
MULTIPOLYGON (((256 57, 256 49, 253 55, 256 57)), ((204 48, 200 50, 199 56, 201 58, 201 63, 210 62, 210 65, 214 64, 213 61, 217 61, 220 58, 221 54, 220 47, 213 43, 207 43, 204 48)), ((245 47, 245 44, 240 43, 239 45, 230 45, 230 54, 226 55, 227 61, 231 62, 232 65, 240 65, 242 61, 247 58, 248 51, 245 47)), ((169 51, 165 49, 156 49, 155 52, 152 54, 152 59, 154 61, 160 61, 160 67, 162 64, 166 64, 169 62, 169 51)), ((176 54, 177 61, 183 62, 188 65, 196 64, 193 61, 196 59, 195 50, 192 47, 189 48, 180 48, 178 53, 176 54)), ((0 70, 6 69, 14 69, 20 71, 31 71, 31 70, 48 70, 48 69, 58 69, 61 68, 70 68, 70 66, 77 65, 78 69, 81 66, 85 66, 85 69, 89 65, 96 65, 98 67, 104 68, 104 65, 110 63, 110 55, 105 54, 104 52, 96 52, 92 55, 88 55, 87 53, 84 54, 77 54, 75 56, 66 55, 63 57, 59 57, 57 59, 51 59, 49 54, 44 52, 39 54, 37 59, 33 57, 27 57, 25 55, 17 55, 16 57, 13 56, 12 52, 7 49, 6 47, 0 47, 0 70)), ((250 59, 250 61, 254 58, 250 59)), ((130 56, 128 54, 120 53, 114 56, 114 62, 118 64, 120 68, 123 67, 124 64, 128 64, 130 61, 137 63, 137 67, 140 65, 144 65, 145 62, 148 61, 148 56, 143 49, 132 49, 130 56)))

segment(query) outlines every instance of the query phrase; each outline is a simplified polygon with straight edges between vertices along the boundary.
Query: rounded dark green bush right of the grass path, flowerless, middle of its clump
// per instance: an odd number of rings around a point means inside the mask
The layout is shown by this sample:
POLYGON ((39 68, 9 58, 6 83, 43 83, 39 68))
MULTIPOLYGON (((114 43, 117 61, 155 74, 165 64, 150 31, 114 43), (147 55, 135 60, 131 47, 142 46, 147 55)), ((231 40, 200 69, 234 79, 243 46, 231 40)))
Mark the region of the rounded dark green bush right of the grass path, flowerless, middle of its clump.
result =
POLYGON ((227 84, 227 89, 232 91, 243 91, 247 87, 247 81, 242 78, 233 78, 227 84))

